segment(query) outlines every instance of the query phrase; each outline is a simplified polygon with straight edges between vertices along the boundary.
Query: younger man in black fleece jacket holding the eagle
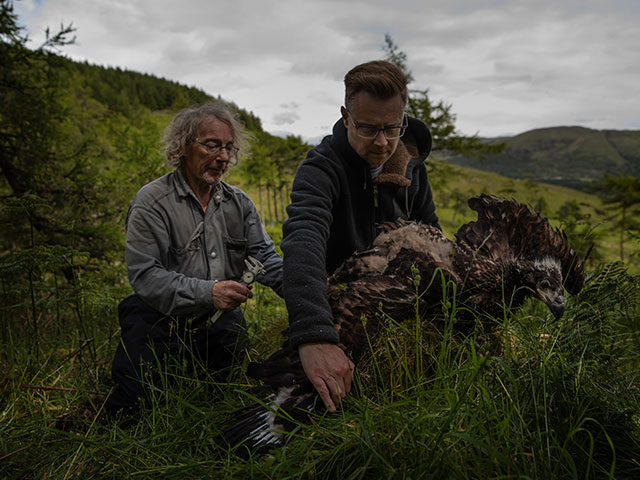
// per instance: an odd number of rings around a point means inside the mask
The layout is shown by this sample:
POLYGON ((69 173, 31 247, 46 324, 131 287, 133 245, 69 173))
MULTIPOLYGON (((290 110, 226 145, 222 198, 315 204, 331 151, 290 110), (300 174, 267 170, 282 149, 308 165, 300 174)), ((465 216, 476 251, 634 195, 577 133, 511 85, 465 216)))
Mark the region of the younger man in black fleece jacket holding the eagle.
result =
POLYGON ((342 118, 296 173, 281 243, 290 342, 330 411, 351 389, 353 364, 337 346, 327 276, 367 250, 385 221, 439 228, 425 166, 431 133, 404 113, 405 75, 373 61, 344 82, 342 118))

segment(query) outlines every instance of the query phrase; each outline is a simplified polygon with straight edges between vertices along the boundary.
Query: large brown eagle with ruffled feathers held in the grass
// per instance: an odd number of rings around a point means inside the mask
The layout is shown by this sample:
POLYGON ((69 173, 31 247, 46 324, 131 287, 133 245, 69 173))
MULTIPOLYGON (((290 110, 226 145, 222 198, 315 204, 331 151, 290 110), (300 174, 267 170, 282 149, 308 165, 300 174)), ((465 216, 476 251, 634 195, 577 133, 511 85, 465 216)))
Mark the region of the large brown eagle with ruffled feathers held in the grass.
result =
MULTIPOLYGON (((470 198, 468 205, 478 218, 458 229, 455 242, 430 225, 385 223, 372 248, 353 254, 329 278, 338 345, 354 364, 370 351, 386 319, 414 317, 416 308, 423 316, 442 313, 443 288, 462 305, 454 324, 460 326, 500 318, 505 308, 517 309, 529 297, 542 300, 557 319, 565 308, 564 290, 575 295, 582 289, 581 259, 546 218, 492 195, 470 198)), ((283 445, 296 422, 322 405, 287 330, 283 335, 278 351, 247 367, 247 375, 271 393, 235 412, 222 433, 222 444, 240 456, 283 445)))

